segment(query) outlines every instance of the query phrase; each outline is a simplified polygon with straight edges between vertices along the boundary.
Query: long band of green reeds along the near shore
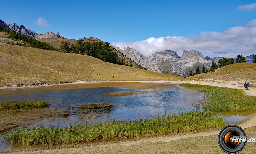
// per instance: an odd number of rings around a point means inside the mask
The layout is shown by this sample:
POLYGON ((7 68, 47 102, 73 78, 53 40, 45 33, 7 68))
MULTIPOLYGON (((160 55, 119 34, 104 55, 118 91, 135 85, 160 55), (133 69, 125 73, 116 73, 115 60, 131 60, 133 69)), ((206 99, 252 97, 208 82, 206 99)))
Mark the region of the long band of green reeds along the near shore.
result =
POLYGON ((4 133, 6 140, 19 144, 77 144, 110 138, 134 138, 203 131, 221 128, 225 122, 210 112, 185 112, 178 115, 140 119, 134 121, 111 121, 69 127, 36 127, 12 129, 4 133))

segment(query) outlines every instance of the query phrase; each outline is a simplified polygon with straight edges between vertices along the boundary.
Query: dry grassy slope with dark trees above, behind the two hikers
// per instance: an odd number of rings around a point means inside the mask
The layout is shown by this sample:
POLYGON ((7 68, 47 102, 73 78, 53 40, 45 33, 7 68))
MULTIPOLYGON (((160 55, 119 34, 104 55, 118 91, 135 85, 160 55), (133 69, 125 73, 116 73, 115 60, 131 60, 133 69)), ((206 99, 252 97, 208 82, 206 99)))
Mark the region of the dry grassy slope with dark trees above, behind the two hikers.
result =
POLYGON ((234 84, 243 85, 249 81, 252 85, 256 83, 256 63, 238 63, 230 64, 215 70, 185 78, 186 80, 203 81, 205 79, 222 81, 234 81, 234 84))

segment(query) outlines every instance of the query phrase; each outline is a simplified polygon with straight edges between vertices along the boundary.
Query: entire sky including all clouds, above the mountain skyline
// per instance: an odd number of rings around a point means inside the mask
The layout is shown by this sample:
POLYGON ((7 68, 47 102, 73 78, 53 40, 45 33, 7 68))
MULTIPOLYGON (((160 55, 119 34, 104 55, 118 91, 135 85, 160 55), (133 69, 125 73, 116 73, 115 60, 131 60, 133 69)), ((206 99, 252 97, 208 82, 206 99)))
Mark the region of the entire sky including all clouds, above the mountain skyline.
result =
POLYGON ((6 24, 24 25, 42 34, 59 32, 69 39, 96 37, 120 48, 137 49, 144 56, 164 50, 182 55, 192 49, 204 57, 256 53, 254 1, 14 3, 2 2, 1 20, 6 24))

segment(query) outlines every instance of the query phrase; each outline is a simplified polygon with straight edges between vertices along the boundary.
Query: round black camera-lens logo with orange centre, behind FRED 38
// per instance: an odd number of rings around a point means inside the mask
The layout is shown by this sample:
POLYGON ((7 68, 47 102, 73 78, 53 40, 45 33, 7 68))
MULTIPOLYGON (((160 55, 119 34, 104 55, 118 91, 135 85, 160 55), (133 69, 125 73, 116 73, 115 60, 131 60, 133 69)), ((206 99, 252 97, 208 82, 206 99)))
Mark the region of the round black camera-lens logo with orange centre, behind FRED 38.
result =
POLYGON ((218 136, 220 149, 229 154, 242 151, 246 145, 247 137, 244 130, 236 125, 224 127, 218 136))

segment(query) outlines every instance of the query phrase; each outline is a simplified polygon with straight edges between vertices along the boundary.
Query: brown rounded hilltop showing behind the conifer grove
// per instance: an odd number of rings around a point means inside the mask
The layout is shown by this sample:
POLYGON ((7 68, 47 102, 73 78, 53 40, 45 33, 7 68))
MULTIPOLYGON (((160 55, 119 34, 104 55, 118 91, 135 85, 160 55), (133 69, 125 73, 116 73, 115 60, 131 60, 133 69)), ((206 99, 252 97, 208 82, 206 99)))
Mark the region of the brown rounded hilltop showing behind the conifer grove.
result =
MULTIPOLYGON (((101 42, 101 43, 104 43, 102 42, 101 40, 97 39, 97 38, 94 38, 94 37, 89 37, 89 38, 86 38, 86 39, 83 39, 84 42, 90 42, 90 43, 93 43, 93 42, 101 42)), ((70 42, 70 45, 71 44, 76 44, 76 41, 75 39, 67 39, 67 38, 44 38, 44 39, 40 39, 39 41, 41 42, 46 42, 50 45, 52 45, 53 47, 55 48, 60 48, 60 45, 61 45, 61 41, 69 41, 70 42)))

